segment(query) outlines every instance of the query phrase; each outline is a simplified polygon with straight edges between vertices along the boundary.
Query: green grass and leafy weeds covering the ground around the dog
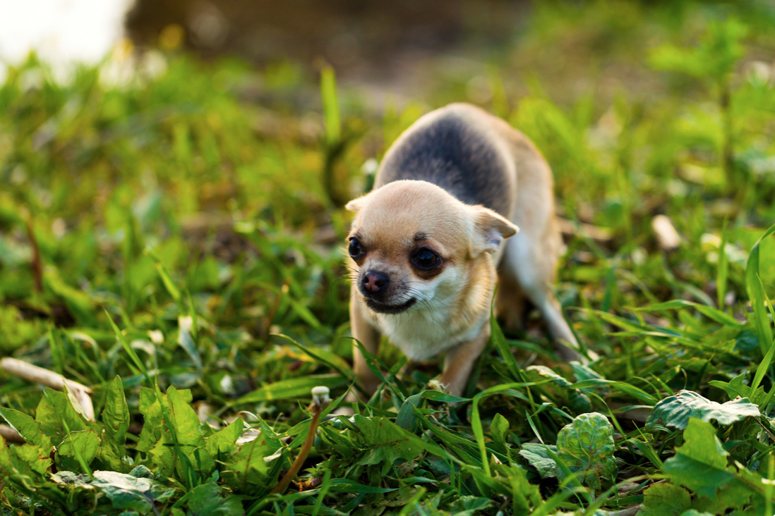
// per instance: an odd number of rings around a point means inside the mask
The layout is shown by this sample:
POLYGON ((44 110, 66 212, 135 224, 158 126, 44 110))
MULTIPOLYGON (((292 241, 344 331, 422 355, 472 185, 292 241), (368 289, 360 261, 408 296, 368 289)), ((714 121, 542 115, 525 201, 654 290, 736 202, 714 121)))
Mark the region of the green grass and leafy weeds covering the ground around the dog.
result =
POLYGON ((0 376, 26 440, 0 441, 3 514, 773 514, 775 15, 677 5, 536 6, 484 77, 484 107, 553 166, 557 293, 601 359, 557 361, 536 314, 519 335, 494 321, 450 398, 425 390, 438 364, 401 378, 386 345, 378 395, 316 429, 311 389, 330 388, 325 416, 353 378, 340 206, 467 79, 375 117, 332 70, 322 108, 300 110, 319 86, 292 63, 10 69, 0 350, 90 386, 97 421, 0 376), (505 87, 509 62, 525 90, 505 87), (584 63, 593 84, 574 91, 584 63), (271 494, 311 426, 298 489, 271 494))

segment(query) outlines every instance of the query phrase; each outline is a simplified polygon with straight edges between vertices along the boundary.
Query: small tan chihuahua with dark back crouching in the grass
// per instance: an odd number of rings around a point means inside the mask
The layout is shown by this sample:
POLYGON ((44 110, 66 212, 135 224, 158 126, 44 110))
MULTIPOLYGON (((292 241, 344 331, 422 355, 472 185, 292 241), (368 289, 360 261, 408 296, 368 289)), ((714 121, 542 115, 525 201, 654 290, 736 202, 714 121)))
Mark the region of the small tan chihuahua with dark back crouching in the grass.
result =
MULTIPOLYGON (((377 353, 381 335, 410 361, 446 353, 439 383, 461 395, 490 337, 490 306, 522 324, 525 298, 543 314, 564 360, 578 343, 550 285, 560 255, 552 173, 505 121, 469 104, 425 114, 391 146, 374 190, 347 204, 353 337, 377 353)), ((379 381, 360 350, 369 394, 379 381)))

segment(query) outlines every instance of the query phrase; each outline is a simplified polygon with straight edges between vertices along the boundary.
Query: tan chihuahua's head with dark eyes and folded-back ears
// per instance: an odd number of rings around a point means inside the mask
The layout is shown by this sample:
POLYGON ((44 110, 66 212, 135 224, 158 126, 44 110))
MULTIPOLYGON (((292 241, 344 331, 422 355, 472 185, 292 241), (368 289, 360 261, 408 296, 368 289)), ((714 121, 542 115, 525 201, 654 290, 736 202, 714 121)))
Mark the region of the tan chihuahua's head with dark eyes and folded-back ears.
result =
POLYGON ((353 280, 378 313, 443 303, 467 283, 492 281, 469 272, 491 264, 491 254, 518 231, 494 211, 461 203, 425 181, 387 183, 347 209, 356 212, 348 237, 353 280))

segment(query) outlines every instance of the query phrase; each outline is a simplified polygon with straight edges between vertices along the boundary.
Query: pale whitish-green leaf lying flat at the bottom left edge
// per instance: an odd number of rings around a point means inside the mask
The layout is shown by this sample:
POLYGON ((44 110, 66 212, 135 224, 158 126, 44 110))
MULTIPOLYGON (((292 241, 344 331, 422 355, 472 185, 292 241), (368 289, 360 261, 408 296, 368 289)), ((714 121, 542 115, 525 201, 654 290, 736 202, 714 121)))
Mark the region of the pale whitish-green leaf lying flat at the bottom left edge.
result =
POLYGON ((154 502, 167 501, 174 494, 174 490, 149 478, 136 478, 115 471, 95 471, 91 485, 105 494, 114 509, 140 514, 150 513, 154 502))

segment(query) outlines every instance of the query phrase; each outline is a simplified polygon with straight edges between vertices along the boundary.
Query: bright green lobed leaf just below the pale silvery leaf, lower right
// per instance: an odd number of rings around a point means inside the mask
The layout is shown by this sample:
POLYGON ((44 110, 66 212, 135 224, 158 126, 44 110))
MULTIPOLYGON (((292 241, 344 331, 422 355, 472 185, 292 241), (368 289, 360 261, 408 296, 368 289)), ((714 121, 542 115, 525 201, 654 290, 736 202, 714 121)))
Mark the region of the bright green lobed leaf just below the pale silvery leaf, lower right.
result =
POLYGON ((735 475, 727 470, 728 456, 713 425, 691 418, 684 430, 684 445, 676 449, 675 456, 666 460, 662 469, 673 484, 713 498, 716 490, 735 480, 735 475))

